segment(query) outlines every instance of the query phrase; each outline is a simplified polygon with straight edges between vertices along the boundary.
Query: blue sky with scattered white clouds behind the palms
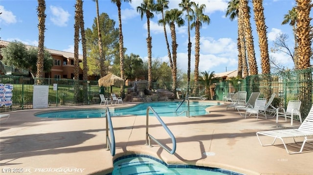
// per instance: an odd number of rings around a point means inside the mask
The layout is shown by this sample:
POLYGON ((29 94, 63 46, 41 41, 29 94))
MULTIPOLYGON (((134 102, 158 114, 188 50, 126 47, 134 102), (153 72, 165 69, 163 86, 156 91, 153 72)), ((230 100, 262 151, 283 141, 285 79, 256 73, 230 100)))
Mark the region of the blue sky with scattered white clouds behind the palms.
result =
MULTIPOLYGON (((179 8, 181 0, 169 0, 169 9, 179 8)), ((210 23, 202 24, 200 31, 200 64, 199 72, 222 73, 233 71, 238 68, 238 50, 237 37, 238 25, 237 19, 231 21, 225 17, 227 3, 229 0, 194 0, 199 4, 205 4, 205 15, 210 18, 210 23)), ((251 0, 249 0, 251 1, 251 0)), ((75 0, 45 0, 46 2, 46 21, 45 21, 45 47, 60 51, 74 52, 74 15, 75 0)), ((122 2, 122 29, 124 37, 124 47, 127 48, 125 54, 131 53, 139 55, 143 60, 147 60, 147 19, 145 16, 141 19, 136 7, 140 6, 142 0, 132 0, 132 3, 122 2)), ((289 35, 289 46, 293 48, 293 33, 290 25, 281 25, 284 15, 288 13, 295 0, 263 0, 264 14, 266 17, 268 48, 273 47, 273 40, 279 33, 289 35)), ((37 0, 1 0, 0 1, 0 38, 5 41, 19 40, 28 45, 38 46, 38 16, 37 0)), ((260 49, 258 36, 253 19, 252 3, 250 23, 254 38, 255 57, 259 73, 261 73, 260 49)), ((92 0, 84 0, 84 21, 85 29, 91 28, 96 18, 96 5, 92 0)), ((99 0, 99 13, 107 13, 109 17, 115 20, 118 28, 117 7, 111 0, 99 0)), ((312 13, 310 14, 312 16, 312 13)), ((185 19, 185 16, 182 17, 185 19)), ((160 14, 155 14, 150 19, 150 32, 152 37, 152 57, 161 61, 169 62, 163 26, 158 25, 157 21, 161 19, 160 14)), ((187 20, 185 25, 176 26, 178 43, 178 69, 183 73, 187 72, 188 67, 188 33, 187 20)), ((191 52, 191 71, 194 71, 195 60, 195 30, 190 31, 192 52, 191 52)), ((169 43, 170 30, 167 26, 167 36, 169 43)), ((82 48, 80 47, 80 54, 82 48)), ((280 64, 292 68, 292 60, 282 53, 269 53, 280 64)))

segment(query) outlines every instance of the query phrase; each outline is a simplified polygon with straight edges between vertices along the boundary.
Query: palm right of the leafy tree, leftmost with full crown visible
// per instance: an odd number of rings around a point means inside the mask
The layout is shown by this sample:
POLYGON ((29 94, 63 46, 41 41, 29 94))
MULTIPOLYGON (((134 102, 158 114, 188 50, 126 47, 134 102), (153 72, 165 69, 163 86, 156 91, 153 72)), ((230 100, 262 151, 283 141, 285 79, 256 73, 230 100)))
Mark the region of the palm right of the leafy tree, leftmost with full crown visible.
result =
POLYGON ((143 0, 140 6, 136 8, 137 12, 140 13, 141 20, 146 14, 147 17, 147 48, 148 48, 148 88, 152 89, 152 37, 150 36, 150 19, 154 17, 153 11, 156 10, 156 5, 153 0, 143 0))

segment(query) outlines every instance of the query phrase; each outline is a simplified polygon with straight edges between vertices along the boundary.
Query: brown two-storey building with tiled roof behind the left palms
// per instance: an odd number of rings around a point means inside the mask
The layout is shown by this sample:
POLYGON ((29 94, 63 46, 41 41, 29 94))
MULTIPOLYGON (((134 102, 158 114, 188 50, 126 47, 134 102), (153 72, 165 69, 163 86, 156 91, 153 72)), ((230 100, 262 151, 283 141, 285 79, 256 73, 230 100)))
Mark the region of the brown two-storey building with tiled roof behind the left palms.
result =
MULTIPOLYGON (((0 48, 6 47, 10 42, 0 40, 0 48)), ((35 47, 25 45, 26 48, 35 47)), ((74 53, 58 51, 53 49, 46 49, 53 58, 53 66, 51 72, 45 73, 45 78, 74 78, 74 53)), ((83 56, 79 55, 79 62, 82 62, 83 56)), ((11 66, 2 63, 2 56, 0 53, 0 74, 1 75, 16 75, 16 76, 30 76, 27 70, 14 69, 11 66)), ((83 79, 83 70, 79 68, 79 79, 83 79)), ((89 80, 94 80, 94 77, 89 77, 89 80)))

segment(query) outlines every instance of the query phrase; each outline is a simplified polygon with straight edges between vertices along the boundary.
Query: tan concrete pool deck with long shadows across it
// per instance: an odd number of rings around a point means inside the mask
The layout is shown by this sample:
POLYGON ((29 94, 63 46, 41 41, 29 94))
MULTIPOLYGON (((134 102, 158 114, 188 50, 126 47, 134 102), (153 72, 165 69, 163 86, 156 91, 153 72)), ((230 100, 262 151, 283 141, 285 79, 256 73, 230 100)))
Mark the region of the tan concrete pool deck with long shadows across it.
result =
MULTIPOLYGON (((211 101, 210 101, 211 102, 211 101)), ((134 103, 113 105, 131 106, 134 103)), ((93 109, 104 105, 72 106, 9 112, 0 125, 0 175, 104 175, 113 159, 129 154, 147 154, 169 164, 222 168, 246 175, 312 175, 313 147, 302 154, 287 154, 282 142, 262 147, 256 132, 298 128, 300 123, 283 118, 241 117, 224 105, 207 108, 209 115, 162 117, 176 137, 177 149, 169 154, 154 141, 145 145, 146 117, 112 117, 116 155, 106 150, 105 118, 40 118, 34 114, 59 109, 93 109), (214 154, 206 156, 204 152, 214 154), (22 170, 23 173, 16 173, 22 170), (15 171, 15 172, 14 172, 15 171)), ((149 133, 172 148, 171 139, 155 117, 149 118, 149 133)), ((263 137, 271 142, 272 138, 263 137)), ((311 142, 312 143, 312 142, 311 142)), ((210 155, 209 154, 209 155, 210 155)))

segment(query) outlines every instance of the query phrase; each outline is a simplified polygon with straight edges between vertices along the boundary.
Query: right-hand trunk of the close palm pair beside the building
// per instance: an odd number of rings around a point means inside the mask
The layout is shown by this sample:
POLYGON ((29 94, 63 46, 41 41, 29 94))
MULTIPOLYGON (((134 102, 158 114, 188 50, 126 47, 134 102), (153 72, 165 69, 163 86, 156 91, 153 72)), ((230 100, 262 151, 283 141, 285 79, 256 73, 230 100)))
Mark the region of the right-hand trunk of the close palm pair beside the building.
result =
POLYGON ((88 80, 88 65, 87 65, 87 48, 86 48, 86 33, 85 33, 85 22, 84 22, 84 11, 83 11, 83 0, 77 1, 78 15, 79 15, 79 28, 80 35, 82 37, 83 47, 83 80, 88 80))

